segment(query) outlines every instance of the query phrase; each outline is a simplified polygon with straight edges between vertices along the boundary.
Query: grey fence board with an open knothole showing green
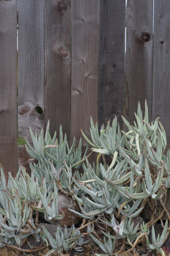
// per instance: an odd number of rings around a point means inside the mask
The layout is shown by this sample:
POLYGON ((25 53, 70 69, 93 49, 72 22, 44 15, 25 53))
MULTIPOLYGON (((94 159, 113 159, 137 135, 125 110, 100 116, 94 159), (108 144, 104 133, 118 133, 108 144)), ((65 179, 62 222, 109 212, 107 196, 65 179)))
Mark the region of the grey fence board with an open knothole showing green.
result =
POLYGON ((44 1, 18 0, 18 136, 44 128, 44 1))

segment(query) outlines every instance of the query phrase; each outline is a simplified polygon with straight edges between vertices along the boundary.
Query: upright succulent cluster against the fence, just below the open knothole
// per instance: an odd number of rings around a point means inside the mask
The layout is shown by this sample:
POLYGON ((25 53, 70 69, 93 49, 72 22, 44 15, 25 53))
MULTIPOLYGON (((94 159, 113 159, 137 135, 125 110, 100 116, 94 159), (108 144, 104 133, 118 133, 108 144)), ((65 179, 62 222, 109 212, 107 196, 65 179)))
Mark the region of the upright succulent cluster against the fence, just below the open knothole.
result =
MULTIPOLYGON (((80 168, 82 164, 82 151, 81 151, 81 138, 78 144, 78 147, 75 149, 75 137, 73 139, 73 144, 69 148, 69 144, 67 142, 67 136, 65 134, 63 139, 63 132, 62 132, 62 126, 60 126, 59 129, 59 142, 56 138, 56 132, 51 138, 49 134, 49 122, 47 124, 46 134, 43 138, 43 130, 41 131, 41 134, 37 137, 36 133, 33 134, 31 128, 30 128, 30 134, 33 142, 33 147, 29 144, 29 142, 26 140, 26 150, 30 154, 31 157, 38 160, 38 163, 30 163, 30 168, 34 171, 34 175, 38 177, 39 182, 41 179, 46 176, 47 179, 47 189, 51 190, 54 186, 54 178, 55 175, 53 175, 51 171, 51 165, 53 165, 53 170, 55 169, 58 173, 58 180, 61 183, 61 186, 63 185, 65 189, 67 189, 67 176, 64 174, 64 168, 65 165, 67 166, 72 165, 72 168, 75 169, 80 168), (65 162, 65 164, 64 164, 65 162), (63 184, 65 181, 65 185, 63 184)), ((87 154, 87 149, 84 153, 83 159, 85 159, 85 156, 87 154)))

